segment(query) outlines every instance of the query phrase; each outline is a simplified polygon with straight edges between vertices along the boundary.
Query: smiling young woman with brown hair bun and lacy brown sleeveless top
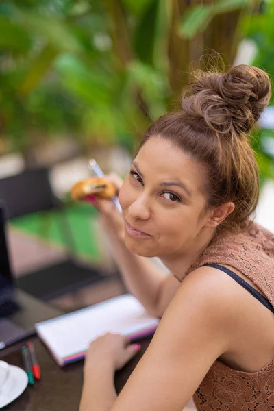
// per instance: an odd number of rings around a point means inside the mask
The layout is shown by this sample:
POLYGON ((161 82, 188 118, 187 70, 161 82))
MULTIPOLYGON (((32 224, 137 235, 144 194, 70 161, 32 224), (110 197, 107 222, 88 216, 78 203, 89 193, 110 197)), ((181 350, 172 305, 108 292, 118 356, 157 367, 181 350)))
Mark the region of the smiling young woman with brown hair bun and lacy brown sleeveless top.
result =
POLYGON ((250 219, 247 138, 270 95, 256 67, 199 73, 182 110, 145 132, 119 191, 123 219, 94 201, 129 291, 162 319, 119 397, 114 372, 138 346, 114 334, 91 343, 81 411, 181 411, 192 395, 201 411, 274 408, 274 235, 250 219))

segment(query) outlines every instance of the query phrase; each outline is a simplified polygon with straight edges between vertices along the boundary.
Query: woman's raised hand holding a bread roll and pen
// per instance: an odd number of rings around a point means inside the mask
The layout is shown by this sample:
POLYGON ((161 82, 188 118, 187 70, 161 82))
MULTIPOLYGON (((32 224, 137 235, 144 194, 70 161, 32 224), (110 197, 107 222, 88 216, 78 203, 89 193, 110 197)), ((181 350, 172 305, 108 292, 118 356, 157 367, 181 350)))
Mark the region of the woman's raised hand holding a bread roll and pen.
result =
MULTIPOLYGON (((116 187, 116 193, 119 195, 119 190, 123 184, 123 180, 115 173, 104 175, 116 187)), ((100 212, 100 219, 103 229, 109 234, 123 240, 125 235, 125 223, 122 214, 116 208, 115 204, 110 200, 99 199, 96 196, 90 196, 90 203, 100 212)))

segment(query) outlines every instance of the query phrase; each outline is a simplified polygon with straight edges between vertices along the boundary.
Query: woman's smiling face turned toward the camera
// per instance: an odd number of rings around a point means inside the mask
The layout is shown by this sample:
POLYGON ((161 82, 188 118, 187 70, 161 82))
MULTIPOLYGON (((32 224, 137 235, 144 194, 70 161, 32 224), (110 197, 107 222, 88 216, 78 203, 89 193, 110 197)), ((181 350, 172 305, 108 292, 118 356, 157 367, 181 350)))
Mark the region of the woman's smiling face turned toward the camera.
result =
POLYGON ((146 257, 187 252, 206 221, 204 170, 169 140, 149 138, 119 193, 125 245, 146 257))

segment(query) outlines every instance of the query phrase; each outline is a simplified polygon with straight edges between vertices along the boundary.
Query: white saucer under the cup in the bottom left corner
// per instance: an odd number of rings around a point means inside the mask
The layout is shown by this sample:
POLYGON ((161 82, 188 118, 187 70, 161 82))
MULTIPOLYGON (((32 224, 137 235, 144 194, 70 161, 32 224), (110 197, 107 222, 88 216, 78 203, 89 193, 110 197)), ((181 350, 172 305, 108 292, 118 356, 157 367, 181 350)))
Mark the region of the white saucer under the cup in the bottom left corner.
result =
POLYGON ((0 408, 18 398, 25 391, 28 384, 27 373, 15 365, 10 365, 10 373, 0 388, 0 408))

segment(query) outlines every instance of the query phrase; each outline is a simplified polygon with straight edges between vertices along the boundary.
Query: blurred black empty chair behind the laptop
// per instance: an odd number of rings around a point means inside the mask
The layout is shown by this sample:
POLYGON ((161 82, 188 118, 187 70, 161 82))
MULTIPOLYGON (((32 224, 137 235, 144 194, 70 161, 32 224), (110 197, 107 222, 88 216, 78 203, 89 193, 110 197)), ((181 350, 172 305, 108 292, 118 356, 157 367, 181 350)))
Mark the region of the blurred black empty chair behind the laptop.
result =
POLYGON ((0 199, 6 204, 9 220, 35 212, 45 212, 42 216, 47 219, 51 210, 58 210, 60 234, 69 249, 69 256, 65 260, 55 264, 49 262, 45 268, 19 277, 19 288, 47 301, 87 284, 110 278, 109 274, 83 264, 73 256, 75 242, 71 227, 62 202, 51 189, 48 169, 29 169, 18 175, 0 179, 0 199))

